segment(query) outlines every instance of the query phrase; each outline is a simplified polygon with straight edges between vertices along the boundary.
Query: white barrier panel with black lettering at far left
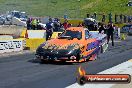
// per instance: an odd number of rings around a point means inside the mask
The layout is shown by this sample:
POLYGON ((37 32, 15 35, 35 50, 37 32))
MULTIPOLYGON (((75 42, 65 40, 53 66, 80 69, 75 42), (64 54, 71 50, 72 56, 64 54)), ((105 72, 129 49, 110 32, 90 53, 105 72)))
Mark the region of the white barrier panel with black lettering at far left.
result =
POLYGON ((23 50, 23 42, 19 39, 0 40, 0 53, 23 50))

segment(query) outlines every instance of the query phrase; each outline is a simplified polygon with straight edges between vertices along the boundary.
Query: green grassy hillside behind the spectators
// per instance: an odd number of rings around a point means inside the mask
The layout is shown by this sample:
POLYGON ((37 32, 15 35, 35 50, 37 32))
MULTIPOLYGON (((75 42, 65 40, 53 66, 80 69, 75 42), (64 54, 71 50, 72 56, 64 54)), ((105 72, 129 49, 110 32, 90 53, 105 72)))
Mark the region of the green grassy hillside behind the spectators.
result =
POLYGON ((26 11, 33 16, 84 18, 93 14, 132 15, 132 7, 127 7, 128 0, 0 0, 0 12, 10 10, 26 11))

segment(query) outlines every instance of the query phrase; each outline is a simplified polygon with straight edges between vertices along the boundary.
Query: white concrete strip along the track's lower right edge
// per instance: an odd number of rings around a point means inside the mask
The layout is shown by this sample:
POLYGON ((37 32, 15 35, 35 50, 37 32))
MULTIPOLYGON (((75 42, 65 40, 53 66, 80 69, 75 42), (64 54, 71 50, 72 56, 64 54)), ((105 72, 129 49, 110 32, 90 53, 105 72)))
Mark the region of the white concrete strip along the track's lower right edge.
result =
MULTIPOLYGON (((132 75, 132 59, 116 65, 112 68, 99 72, 98 74, 130 74, 132 75)), ((80 86, 78 83, 74 83, 66 88, 112 88, 116 84, 85 84, 80 86)), ((124 84, 127 85, 127 84, 124 84)), ((129 87, 126 87, 129 88, 129 87)))

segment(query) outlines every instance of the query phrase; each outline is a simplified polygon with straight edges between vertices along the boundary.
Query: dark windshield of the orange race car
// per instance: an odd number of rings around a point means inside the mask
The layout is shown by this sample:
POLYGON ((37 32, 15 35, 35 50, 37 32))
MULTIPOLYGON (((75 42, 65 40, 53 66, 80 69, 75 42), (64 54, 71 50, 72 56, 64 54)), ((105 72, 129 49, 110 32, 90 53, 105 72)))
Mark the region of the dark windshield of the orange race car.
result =
POLYGON ((71 31, 71 30, 66 30, 65 32, 63 32, 60 36, 59 39, 65 39, 65 38, 70 38, 70 39, 74 39, 74 38, 82 38, 82 32, 79 31, 71 31))

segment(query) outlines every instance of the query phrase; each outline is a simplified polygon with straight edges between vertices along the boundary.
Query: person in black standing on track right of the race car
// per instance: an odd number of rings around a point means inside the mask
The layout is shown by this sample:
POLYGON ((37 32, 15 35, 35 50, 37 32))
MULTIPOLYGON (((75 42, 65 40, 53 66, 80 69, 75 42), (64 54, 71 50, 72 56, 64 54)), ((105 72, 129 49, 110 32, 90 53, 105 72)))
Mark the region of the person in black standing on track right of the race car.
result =
POLYGON ((107 29, 107 44, 109 43, 109 39, 111 37, 112 46, 114 46, 113 32, 114 32, 113 24, 112 23, 109 23, 108 24, 108 29, 107 29))

